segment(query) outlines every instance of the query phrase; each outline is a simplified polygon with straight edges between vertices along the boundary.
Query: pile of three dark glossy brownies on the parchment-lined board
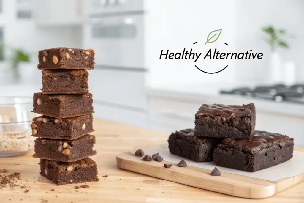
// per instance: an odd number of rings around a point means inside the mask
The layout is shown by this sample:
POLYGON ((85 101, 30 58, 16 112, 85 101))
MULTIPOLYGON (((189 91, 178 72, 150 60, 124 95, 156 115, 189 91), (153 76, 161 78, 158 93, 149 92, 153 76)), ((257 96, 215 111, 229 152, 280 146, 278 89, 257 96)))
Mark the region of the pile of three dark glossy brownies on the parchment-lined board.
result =
POLYGON ((169 136, 169 151, 197 162, 254 172, 292 158, 293 138, 255 130, 255 106, 203 104, 195 129, 169 136))

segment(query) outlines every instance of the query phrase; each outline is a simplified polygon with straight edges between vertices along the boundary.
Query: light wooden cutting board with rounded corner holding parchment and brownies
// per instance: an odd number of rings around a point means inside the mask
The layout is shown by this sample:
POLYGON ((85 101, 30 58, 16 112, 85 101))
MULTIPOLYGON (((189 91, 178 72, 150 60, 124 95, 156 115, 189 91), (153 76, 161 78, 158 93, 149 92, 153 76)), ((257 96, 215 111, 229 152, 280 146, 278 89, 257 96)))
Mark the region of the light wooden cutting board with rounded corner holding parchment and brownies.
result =
MULTIPOLYGON (((304 151, 301 149, 295 150, 304 151)), ((134 152, 124 152, 117 155, 116 163, 121 169, 214 192, 251 199, 271 197, 304 181, 304 173, 276 181, 223 172, 221 176, 210 176, 211 170, 193 166, 185 168, 176 167, 176 163, 172 163, 173 166, 171 168, 165 168, 163 164, 170 162, 165 160, 163 162, 143 161, 141 157, 135 156, 134 152)))

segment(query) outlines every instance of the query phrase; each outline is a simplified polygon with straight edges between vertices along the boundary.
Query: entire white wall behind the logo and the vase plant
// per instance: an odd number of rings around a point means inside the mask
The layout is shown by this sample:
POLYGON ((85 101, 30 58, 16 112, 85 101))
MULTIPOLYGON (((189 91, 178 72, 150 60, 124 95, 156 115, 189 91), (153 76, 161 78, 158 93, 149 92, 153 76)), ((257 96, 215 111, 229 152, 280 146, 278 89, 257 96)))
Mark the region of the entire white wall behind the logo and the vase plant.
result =
MULTIPOLYGON (((304 80, 302 55, 304 54, 304 1, 302 0, 166 0, 145 1, 145 53, 147 86, 162 86, 163 83, 244 82, 258 83, 267 80, 269 47, 262 40, 263 26, 273 24, 287 29, 298 37, 288 40, 290 50, 280 50, 283 61, 295 61, 298 80, 304 80), (214 75, 199 72, 187 60, 159 60, 161 49, 181 51, 191 48, 199 41, 200 51, 206 53, 203 41, 210 31, 223 28, 216 43, 221 51, 264 53, 261 60, 229 61, 229 68, 214 75)), ((224 61, 227 63, 227 61, 224 61)), ((220 62, 202 61, 204 70, 217 69, 220 62)), ((227 63, 228 64, 228 63, 227 63)), ((164 84, 165 86, 165 84, 164 84)))

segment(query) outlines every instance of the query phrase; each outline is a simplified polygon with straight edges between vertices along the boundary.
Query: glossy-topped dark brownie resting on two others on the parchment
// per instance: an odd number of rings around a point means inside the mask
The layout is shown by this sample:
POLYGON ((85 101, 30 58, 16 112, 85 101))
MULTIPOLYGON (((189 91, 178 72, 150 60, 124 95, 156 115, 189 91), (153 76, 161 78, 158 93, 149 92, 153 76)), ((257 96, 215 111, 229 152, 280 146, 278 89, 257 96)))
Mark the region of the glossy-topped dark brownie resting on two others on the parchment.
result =
POLYGON ((203 104, 195 114, 195 135, 249 139, 255 128, 253 103, 238 105, 203 104))

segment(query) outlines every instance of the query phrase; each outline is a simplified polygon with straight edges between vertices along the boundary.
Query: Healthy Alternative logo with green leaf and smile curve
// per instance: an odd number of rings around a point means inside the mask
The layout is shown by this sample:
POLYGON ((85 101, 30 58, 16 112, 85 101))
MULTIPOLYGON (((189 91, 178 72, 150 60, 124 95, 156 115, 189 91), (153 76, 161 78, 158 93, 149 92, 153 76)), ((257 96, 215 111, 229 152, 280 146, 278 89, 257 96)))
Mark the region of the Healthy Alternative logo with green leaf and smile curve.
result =
MULTIPOLYGON (((216 40, 219 39, 219 36, 221 35, 223 29, 219 29, 219 30, 213 30, 212 32, 209 33, 209 35, 207 36, 207 41, 205 42, 205 45, 208 43, 213 43, 216 40)), ((197 44, 198 42, 195 42, 193 44, 197 44)), ((224 44, 226 46, 228 46, 227 43, 224 42, 224 44)), ((180 53, 169 53, 169 50, 167 50, 166 53, 163 53, 163 49, 161 50, 161 55, 159 57, 159 59, 162 58, 162 56, 165 56, 165 59, 192 59, 194 60, 194 62, 196 63, 197 60, 199 59, 199 57, 202 55, 202 53, 195 53, 192 52, 192 48, 190 49, 190 51, 186 50, 186 48, 184 48, 184 50, 180 53)), ((210 48, 207 53, 205 54, 205 57, 203 59, 217 59, 217 60, 225 60, 225 59, 262 59, 263 53, 252 53, 252 50, 250 49, 250 52, 246 51, 246 52, 241 52, 241 53, 221 53, 217 50, 217 48, 212 51, 212 49, 210 48)), ((197 68, 198 70, 200 70, 201 72, 207 73, 207 74, 215 74, 215 73, 219 73, 222 72, 223 70, 225 70, 228 65, 226 65, 224 68, 222 68, 219 71, 216 72, 206 72, 203 71, 201 68, 199 68, 196 64, 194 65, 195 68, 197 68)), ((213 67, 213 66, 212 66, 213 67)))

